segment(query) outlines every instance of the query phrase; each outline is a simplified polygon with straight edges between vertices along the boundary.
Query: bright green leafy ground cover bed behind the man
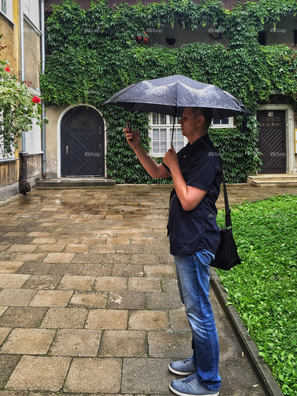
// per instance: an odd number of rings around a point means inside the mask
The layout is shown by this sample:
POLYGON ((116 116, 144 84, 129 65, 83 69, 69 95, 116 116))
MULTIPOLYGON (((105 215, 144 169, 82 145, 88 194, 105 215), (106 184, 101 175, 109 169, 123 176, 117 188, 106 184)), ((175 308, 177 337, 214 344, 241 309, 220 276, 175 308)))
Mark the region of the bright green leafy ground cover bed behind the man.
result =
MULTIPOLYGON (((232 209, 242 265, 217 274, 282 392, 295 396, 297 195, 246 201, 232 209)), ((225 211, 219 211, 219 226, 224 221, 225 211)))

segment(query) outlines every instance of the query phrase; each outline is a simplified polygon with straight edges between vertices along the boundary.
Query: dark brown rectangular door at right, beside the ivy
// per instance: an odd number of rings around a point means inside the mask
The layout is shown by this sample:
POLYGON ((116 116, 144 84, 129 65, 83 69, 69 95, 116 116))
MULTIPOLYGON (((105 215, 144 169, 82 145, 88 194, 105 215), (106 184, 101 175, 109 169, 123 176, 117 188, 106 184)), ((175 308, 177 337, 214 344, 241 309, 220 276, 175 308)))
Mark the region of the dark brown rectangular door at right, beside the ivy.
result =
POLYGON ((286 112, 285 110, 261 110, 259 150, 263 153, 261 173, 286 173, 286 112))

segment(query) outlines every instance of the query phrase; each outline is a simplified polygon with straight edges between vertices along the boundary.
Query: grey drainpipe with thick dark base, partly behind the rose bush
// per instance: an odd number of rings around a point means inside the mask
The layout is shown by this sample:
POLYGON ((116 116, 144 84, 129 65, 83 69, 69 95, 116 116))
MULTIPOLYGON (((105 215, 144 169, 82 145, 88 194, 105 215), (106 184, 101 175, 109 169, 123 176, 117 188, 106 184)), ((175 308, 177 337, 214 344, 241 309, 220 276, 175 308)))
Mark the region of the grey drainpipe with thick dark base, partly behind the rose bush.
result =
MULTIPOLYGON (((24 7, 23 0, 19 0, 19 40, 20 40, 20 78, 25 80, 25 55, 24 55, 24 7)), ((19 192, 27 194, 31 191, 30 184, 27 182, 27 152, 26 152, 26 132, 22 131, 19 175, 19 192)))

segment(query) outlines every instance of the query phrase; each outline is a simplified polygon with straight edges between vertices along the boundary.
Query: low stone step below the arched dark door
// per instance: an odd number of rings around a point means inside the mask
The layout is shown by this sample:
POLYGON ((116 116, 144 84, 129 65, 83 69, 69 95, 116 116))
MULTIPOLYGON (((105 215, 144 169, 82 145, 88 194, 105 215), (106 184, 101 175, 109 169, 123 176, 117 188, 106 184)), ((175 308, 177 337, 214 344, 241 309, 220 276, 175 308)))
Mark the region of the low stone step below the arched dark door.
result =
POLYGON ((104 177, 61 177, 59 179, 43 179, 36 182, 38 190, 59 190, 76 188, 114 188, 115 180, 104 177))

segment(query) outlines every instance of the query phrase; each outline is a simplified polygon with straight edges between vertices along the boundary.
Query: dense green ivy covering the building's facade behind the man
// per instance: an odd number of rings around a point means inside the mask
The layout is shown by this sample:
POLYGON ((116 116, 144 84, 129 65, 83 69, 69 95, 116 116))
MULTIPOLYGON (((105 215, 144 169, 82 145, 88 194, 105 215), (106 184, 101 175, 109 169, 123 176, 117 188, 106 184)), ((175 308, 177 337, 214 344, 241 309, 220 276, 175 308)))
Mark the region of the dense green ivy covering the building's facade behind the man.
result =
MULTIPOLYGON (((246 107, 255 109, 271 99, 271 91, 281 92, 274 103, 296 108, 297 51, 284 44, 260 46, 257 32, 276 23, 288 12, 296 15, 293 0, 247 2, 226 10, 219 0, 168 0, 168 3, 122 3, 115 10, 105 0, 93 0, 82 10, 73 0, 53 7, 46 21, 46 42, 51 50, 40 84, 46 105, 89 103, 103 112, 108 123, 108 174, 118 183, 169 183, 152 179, 142 168, 125 141, 122 129, 131 121, 139 129, 148 151, 148 115, 143 112, 103 106, 111 95, 141 80, 183 74, 227 90, 246 107), (211 23, 228 35, 226 46, 195 42, 181 48, 149 46, 148 27, 173 26, 197 29, 211 23), (139 36, 141 40, 135 40, 139 36), (144 40, 148 38, 148 41, 144 40), (94 93, 95 92, 95 93, 94 93)), ((249 116, 248 128, 209 129, 215 145, 223 152, 228 183, 246 181, 246 173, 260 170, 257 148, 259 123, 249 116)), ((158 161, 160 162, 160 158, 158 161)))

